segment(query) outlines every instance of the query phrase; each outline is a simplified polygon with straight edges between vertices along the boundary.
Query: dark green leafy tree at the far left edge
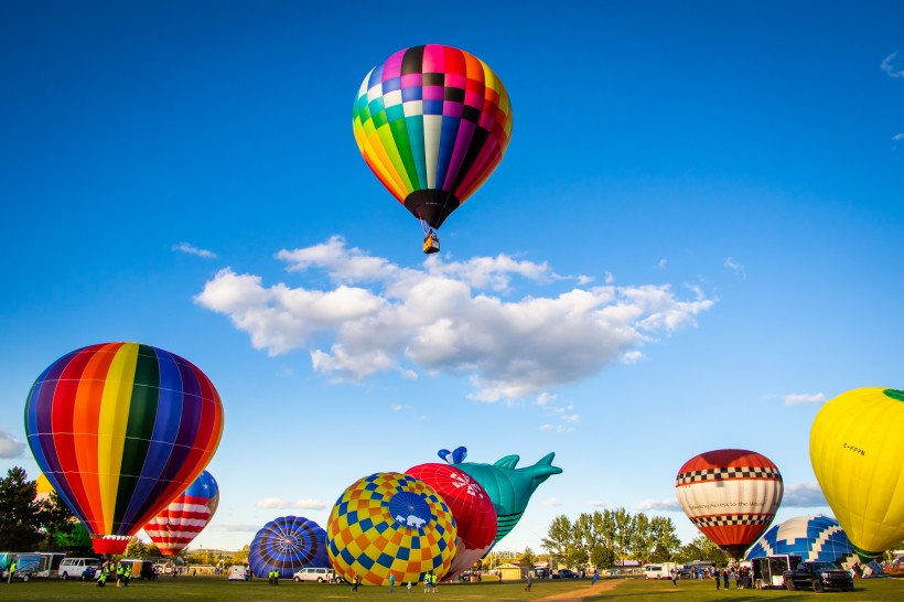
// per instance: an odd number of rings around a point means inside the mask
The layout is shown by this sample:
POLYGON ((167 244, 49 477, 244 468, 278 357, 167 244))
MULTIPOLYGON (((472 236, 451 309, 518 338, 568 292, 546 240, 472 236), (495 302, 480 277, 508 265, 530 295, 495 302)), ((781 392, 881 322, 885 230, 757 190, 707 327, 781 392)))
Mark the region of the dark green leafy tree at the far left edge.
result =
POLYGON ((0 549, 33 550, 43 539, 40 533, 45 507, 35 502, 37 485, 24 469, 13 466, 0 479, 0 549))

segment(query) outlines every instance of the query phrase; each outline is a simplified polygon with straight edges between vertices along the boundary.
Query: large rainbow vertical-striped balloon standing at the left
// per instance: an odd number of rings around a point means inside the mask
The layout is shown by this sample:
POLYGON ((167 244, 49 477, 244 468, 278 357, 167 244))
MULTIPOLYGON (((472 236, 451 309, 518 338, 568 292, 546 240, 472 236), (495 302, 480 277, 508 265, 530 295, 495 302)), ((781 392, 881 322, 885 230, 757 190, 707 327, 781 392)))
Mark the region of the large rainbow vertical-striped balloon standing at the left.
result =
POLYGON ((105 343, 64 355, 37 377, 25 431, 95 551, 121 553, 207 465, 223 433, 223 405, 186 359, 105 343))

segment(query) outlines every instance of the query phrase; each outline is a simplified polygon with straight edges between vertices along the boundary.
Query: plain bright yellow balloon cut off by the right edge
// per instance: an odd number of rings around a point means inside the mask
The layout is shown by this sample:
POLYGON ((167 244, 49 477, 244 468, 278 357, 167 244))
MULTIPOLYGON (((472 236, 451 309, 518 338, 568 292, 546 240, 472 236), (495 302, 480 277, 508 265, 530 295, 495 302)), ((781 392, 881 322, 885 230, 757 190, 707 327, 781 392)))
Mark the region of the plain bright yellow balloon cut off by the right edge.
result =
POLYGON ((853 389, 816 415, 810 462, 864 562, 904 539, 904 391, 853 389))

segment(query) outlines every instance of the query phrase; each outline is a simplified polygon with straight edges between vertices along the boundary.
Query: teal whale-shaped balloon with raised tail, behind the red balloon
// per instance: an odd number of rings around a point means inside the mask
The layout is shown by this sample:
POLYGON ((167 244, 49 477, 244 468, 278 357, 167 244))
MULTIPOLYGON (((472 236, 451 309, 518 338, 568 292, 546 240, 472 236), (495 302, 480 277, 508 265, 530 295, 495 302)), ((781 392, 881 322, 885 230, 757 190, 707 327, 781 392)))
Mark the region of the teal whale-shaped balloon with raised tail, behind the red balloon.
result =
POLYGON ((518 524, 518 520, 521 519, 530 496, 534 495, 540 483, 553 474, 562 472, 562 469, 552 465, 553 458, 556 458, 556 454, 549 453, 532 466, 523 469, 515 467, 518 460, 520 460, 517 455, 506 455, 497 460, 495 464, 474 462, 453 464, 453 466, 466 472, 489 494, 489 498, 496 507, 498 522, 496 539, 493 541, 494 546, 498 544, 499 539, 508 535, 518 524))

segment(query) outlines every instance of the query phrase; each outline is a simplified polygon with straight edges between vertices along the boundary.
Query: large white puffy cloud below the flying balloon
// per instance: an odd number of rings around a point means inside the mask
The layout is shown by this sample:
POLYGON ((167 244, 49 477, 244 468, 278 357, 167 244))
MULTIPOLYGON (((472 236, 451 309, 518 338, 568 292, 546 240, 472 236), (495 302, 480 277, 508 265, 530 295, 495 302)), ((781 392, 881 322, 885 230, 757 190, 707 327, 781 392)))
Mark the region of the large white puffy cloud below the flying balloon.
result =
MULTIPOLYGON (((547 264, 505 255, 420 268, 347 248, 340 237, 282 250, 290 272, 323 270, 333 288, 220 270, 195 302, 229 316, 271 355, 305 350, 315 370, 362 380, 390 370, 467 376, 481 401, 510 400, 593 376, 657 337, 696 325, 714 301, 679 299, 668 284, 574 287, 510 300, 516 279, 569 280, 547 264)), ((570 279, 574 280, 574 279, 570 279)))

